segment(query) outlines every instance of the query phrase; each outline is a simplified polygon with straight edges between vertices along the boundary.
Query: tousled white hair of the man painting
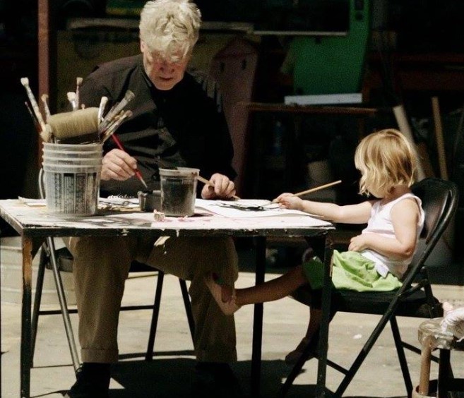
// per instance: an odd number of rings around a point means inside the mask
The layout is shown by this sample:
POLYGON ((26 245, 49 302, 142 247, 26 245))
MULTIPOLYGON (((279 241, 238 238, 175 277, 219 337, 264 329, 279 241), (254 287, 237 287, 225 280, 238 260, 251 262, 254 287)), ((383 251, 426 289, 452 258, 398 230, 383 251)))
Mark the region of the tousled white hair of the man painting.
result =
POLYGON ((141 12, 140 38, 150 52, 182 61, 198 40, 201 13, 190 0, 148 1, 141 12))

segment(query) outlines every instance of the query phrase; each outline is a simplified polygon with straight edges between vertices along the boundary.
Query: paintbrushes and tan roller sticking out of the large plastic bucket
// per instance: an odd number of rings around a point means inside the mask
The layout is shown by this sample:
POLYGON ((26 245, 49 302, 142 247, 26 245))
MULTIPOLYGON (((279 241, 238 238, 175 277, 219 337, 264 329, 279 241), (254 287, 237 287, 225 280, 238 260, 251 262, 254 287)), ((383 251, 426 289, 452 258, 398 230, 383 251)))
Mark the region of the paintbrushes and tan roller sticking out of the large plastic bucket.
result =
POLYGON ((124 99, 115 104, 105 117, 102 117, 107 104, 107 97, 102 97, 100 107, 85 108, 85 104, 81 104, 79 100, 81 83, 82 78, 77 78, 76 92, 68 92, 67 94, 72 108, 72 111, 69 112, 50 114, 47 104, 48 95, 42 95, 46 115, 44 120, 39 105, 32 94, 32 90, 30 90, 29 79, 21 78, 21 84, 25 87, 30 101, 30 106, 28 102, 25 104, 30 111, 37 132, 45 142, 66 144, 104 143, 121 126, 121 123, 131 116, 132 112, 124 111, 124 107, 133 99, 133 92, 128 90, 124 99))

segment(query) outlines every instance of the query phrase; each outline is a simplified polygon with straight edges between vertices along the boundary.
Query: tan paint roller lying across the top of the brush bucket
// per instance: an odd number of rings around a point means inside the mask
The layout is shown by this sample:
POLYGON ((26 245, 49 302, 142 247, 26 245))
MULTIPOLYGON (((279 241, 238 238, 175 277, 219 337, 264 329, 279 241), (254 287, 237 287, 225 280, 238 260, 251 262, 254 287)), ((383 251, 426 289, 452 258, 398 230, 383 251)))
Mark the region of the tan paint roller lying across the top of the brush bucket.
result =
POLYGON ((98 108, 78 109, 49 117, 52 134, 59 143, 97 143, 98 108))

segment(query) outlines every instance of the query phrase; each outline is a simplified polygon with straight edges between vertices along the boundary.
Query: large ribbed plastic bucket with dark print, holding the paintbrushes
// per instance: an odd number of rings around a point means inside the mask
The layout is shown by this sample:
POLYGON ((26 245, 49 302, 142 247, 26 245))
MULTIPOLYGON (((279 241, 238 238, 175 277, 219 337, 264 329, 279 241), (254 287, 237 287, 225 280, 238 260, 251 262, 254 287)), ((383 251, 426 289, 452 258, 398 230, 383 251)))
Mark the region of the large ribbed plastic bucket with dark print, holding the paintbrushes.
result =
POLYGON ((42 166, 48 212, 62 216, 95 215, 102 170, 102 144, 99 147, 99 156, 90 158, 81 157, 83 153, 91 153, 85 151, 71 151, 66 157, 44 156, 42 166))

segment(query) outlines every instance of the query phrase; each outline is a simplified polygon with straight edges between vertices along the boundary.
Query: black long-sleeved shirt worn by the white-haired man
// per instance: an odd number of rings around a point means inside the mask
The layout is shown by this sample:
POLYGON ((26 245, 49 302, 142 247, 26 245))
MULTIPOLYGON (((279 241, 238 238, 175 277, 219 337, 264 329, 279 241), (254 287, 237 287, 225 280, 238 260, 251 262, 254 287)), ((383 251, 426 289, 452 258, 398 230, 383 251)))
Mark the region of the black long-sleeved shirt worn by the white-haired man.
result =
MULTIPOLYGON (((107 112, 127 90, 135 97, 125 109, 131 118, 117 129, 126 152, 138 161, 138 169, 150 189, 159 188, 158 167, 195 167, 209 179, 214 173, 234 179, 232 140, 217 93, 203 76, 185 73, 171 90, 157 90, 143 70, 142 56, 117 59, 98 66, 83 81, 80 103, 98 107, 108 97, 107 112)), ((115 148, 110 138, 104 150, 115 148)), ((136 195, 143 186, 135 177, 126 181, 102 181, 102 195, 136 195)))

